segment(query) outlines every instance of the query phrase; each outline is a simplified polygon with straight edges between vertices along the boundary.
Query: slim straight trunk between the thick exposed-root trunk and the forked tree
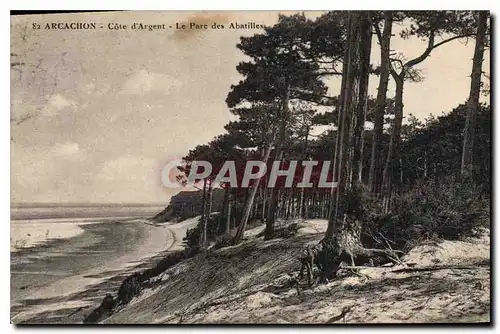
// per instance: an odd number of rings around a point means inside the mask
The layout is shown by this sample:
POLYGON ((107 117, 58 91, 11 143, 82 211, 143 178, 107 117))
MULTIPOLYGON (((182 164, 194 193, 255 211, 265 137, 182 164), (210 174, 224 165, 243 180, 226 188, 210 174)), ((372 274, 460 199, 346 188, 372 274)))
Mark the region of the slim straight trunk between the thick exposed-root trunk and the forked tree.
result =
MULTIPOLYGON (((378 29, 378 28, 376 28, 378 29)), ((378 31, 378 30, 377 30, 378 31)), ((384 129, 384 115, 387 101, 387 87, 390 75, 390 51, 392 35, 392 12, 384 12, 384 31, 380 36, 380 78, 377 101, 375 103, 375 119, 373 125, 373 144, 370 160, 368 185, 373 194, 380 193, 382 181, 382 134, 384 129)))

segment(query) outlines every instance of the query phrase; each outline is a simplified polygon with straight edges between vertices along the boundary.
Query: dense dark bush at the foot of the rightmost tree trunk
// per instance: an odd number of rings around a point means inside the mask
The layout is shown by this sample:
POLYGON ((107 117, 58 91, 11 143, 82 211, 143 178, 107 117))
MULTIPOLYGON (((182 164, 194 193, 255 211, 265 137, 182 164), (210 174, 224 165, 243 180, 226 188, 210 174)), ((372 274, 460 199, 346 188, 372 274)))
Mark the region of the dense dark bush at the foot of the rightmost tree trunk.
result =
POLYGON ((374 232, 400 249, 422 240, 473 236, 489 226, 489 203, 471 180, 428 180, 398 196, 392 213, 376 219, 374 232))

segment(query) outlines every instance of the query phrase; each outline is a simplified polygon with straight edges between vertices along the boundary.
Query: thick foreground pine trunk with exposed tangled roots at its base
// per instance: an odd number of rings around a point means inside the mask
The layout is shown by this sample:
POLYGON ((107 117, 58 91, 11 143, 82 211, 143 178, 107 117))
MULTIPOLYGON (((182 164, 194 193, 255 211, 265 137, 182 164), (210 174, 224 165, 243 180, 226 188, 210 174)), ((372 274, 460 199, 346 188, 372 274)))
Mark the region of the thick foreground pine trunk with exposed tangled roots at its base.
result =
MULTIPOLYGON (((356 258, 384 254, 385 250, 365 249, 361 243, 362 221, 355 214, 346 211, 343 202, 344 196, 357 191, 359 180, 360 159, 362 156, 363 131, 360 131, 361 121, 364 121, 366 104, 364 90, 368 72, 363 71, 366 64, 367 26, 370 26, 371 13, 367 11, 349 13, 347 54, 344 62, 348 64, 348 71, 343 73, 346 80, 341 120, 339 122, 340 145, 338 154, 338 181, 335 210, 329 214, 328 229, 322 240, 324 256, 319 258, 323 278, 334 275, 342 261, 354 261, 356 258), (364 106, 365 110, 362 110, 364 106), (359 107, 359 108, 358 108, 359 107), (361 111, 361 113, 360 113, 361 111), (341 202, 342 200, 342 202, 341 202), (348 256, 346 256, 348 255, 348 256), (349 257, 349 258, 348 258, 349 257)), ((369 58, 368 58, 369 59, 369 58)), ((330 206, 331 207, 331 206, 330 206)))

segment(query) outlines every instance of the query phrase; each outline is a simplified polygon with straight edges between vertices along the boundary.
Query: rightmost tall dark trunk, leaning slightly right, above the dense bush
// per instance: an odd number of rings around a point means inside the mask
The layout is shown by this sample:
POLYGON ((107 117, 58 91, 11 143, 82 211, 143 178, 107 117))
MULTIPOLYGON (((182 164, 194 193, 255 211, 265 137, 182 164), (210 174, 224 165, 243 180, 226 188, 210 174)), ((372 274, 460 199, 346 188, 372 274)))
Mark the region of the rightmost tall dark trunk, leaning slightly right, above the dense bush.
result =
POLYGON ((481 75, 484 58, 484 43, 489 12, 481 11, 478 17, 476 33, 476 46, 474 48, 474 58, 472 60, 471 84, 469 99, 467 100, 467 118, 465 120, 464 142, 462 150, 461 175, 473 172, 473 149, 476 127, 476 115, 479 111, 479 95, 481 92, 481 75))

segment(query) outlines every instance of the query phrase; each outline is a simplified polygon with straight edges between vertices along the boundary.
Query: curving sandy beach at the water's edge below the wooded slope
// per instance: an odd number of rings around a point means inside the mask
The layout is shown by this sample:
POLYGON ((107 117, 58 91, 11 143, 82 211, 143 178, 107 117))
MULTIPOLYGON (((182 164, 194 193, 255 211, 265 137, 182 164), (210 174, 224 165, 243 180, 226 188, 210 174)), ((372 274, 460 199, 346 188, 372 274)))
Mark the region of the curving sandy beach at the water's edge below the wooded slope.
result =
POLYGON ((125 276, 180 249, 196 220, 175 225, 141 218, 23 224, 25 231, 66 226, 59 228, 60 238, 11 252, 11 321, 78 323, 125 276))

